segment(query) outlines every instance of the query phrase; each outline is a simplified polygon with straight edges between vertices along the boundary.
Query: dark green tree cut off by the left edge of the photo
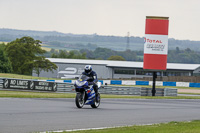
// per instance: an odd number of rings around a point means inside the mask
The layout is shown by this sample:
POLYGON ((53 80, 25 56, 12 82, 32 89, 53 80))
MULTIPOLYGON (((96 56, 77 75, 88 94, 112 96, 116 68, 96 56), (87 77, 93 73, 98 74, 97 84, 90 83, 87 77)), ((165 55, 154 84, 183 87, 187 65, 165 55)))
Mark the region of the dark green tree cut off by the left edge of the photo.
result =
POLYGON ((0 44, 0 73, 12 72, 11 62, 5 52, 5 44, 0 44))

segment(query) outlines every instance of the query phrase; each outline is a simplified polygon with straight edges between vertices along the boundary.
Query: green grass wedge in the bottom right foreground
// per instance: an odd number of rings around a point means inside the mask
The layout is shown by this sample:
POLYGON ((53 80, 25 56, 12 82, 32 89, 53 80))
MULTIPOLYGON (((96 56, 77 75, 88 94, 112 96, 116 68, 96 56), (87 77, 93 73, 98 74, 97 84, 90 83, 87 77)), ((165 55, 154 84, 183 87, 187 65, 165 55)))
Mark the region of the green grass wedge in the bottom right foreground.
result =
MULTIPOLYGON (((144 126, 127 126, 100 130, 74 131, 73 133, 200 133, 200 121, 170 122, 144 126)), ((66 132, 63 132, 66 133, 66 132)))

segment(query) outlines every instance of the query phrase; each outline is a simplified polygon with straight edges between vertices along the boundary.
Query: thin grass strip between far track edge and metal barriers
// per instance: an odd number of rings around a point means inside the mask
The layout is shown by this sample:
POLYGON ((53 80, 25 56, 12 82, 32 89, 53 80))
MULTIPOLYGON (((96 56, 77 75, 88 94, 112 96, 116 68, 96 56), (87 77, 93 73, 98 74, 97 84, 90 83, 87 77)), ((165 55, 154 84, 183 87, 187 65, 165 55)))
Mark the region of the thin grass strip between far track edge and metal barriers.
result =
MULTIPOLYGON (((30 92, 30 91, 5 91, 0 90, 0 97, 10 98, 75 98, 75 93, 30 92)), ((200 99, 200 96, 131 96, 131 95, 107 95, 101 94, 101 98, 125 98, 125 99, 200 99)))

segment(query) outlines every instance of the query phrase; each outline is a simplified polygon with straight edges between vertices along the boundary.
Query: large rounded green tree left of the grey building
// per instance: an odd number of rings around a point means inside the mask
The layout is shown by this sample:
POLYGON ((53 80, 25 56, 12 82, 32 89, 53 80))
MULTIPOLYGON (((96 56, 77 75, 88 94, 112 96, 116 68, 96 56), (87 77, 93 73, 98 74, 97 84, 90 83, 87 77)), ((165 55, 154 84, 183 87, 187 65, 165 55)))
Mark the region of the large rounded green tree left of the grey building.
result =
MULTIPOLYGON (((12 63, 14 73, 31 75, 35 63, 42 60, 46 51, 41 48, 41 41, 31 37, 22 37, 6 45, 6 52, 12 63)), ((45 61, 45 60, 42 60, 45 61)))

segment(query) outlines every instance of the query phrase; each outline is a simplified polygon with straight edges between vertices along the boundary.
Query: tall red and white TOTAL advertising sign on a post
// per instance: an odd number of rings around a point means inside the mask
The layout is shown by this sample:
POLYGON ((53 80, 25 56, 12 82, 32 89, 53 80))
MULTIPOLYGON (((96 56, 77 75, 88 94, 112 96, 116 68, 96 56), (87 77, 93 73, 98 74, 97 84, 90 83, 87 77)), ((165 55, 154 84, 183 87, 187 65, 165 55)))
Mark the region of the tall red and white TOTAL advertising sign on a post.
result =
POLYGON ((143 69, 166 70, 168 17, 146 17, 143 69))

